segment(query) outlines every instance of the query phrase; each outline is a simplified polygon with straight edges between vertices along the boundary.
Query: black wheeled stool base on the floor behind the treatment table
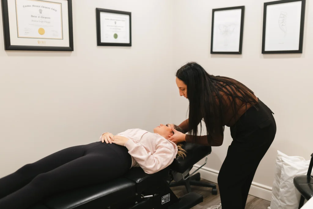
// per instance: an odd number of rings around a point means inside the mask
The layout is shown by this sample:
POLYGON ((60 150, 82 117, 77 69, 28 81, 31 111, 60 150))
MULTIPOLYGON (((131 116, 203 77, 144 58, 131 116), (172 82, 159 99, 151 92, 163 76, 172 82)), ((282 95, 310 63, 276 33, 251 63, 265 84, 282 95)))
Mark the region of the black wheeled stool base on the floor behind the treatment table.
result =
POLYGON ((217 195, 217 189, 215 184, 210 184, 206 182, 200 182, 200 173, 196 173, 192 175, 187 180, 180 180, 178 182, 172 182, 170 183, 170 187, 175 186, 185 186, 188 193, 191 192, 191 186, 203 186, 203 187, 209 187, 212 188, 212 194, 217 195))

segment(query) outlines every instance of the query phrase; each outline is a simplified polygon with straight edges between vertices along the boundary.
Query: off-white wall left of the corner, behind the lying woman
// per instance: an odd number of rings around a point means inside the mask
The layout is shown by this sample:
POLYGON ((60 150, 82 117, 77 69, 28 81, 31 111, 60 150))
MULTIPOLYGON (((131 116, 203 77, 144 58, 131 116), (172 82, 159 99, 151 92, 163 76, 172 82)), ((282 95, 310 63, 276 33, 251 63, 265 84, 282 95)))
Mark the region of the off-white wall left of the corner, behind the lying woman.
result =
POLYGON ((74 52, 5 51, 0 177, 104 131, 169 123, 172 1, 74 0, 74 52), (95 8, 132 12, 132 47, 97 47, 95 8))

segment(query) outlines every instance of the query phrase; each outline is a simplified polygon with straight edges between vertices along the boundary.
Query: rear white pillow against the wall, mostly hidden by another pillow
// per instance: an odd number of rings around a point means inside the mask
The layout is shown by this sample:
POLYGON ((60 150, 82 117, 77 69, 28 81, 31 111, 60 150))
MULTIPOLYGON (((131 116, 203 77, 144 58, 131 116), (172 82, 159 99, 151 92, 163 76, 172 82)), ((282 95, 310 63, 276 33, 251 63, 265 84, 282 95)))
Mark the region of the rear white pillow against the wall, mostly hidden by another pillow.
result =
POLYGON ((303 157, 299 156, 288 156, 279 150, 277 150, 277 157, 276 157, 276 170, 275 170, 275 177, 272 187, 272 201, 269 209, 278 209, 279 203, 279 191, 280 191, 280 176, 281 176, 281 167, 282 167, 282 157, 285 159, 293 160, 294 162, 297 161, 305 161, 303 157))

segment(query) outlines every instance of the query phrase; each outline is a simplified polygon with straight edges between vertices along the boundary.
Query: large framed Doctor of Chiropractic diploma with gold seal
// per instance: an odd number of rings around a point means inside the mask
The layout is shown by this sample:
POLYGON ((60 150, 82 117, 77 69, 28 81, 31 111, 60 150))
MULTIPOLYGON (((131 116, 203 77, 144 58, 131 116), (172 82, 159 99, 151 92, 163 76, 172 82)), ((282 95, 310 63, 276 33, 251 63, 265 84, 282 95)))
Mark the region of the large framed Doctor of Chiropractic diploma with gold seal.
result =
POLYGON ((1 2, 5 50, 74 50, 72 0, 1 2))

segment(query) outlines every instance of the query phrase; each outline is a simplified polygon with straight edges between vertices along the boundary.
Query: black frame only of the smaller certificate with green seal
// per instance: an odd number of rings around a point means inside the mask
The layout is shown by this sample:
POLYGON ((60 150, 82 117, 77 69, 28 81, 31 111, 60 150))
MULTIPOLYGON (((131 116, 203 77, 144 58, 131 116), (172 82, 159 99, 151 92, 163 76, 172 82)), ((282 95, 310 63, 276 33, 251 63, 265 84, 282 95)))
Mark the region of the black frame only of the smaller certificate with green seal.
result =
POLYGON ((97 46, 131 46, 131 12, 96 8, 96 23, 97 23, 97 46), (126 14, 129 15, 129 43, 103 43, 101 42, 101 19, 100 13, 114 13, 114 14, 126 14))

